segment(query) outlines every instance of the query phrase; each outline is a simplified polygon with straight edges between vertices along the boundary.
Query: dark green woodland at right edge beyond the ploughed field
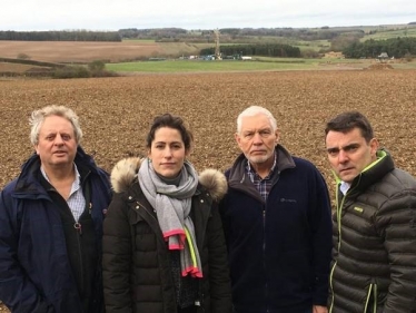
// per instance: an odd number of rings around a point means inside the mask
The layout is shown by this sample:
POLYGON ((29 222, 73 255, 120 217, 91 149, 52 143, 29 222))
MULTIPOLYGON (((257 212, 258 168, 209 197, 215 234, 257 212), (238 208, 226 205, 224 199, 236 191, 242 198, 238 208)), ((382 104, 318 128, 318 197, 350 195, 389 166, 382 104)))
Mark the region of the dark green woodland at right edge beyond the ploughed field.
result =
POLYGON ((353 42, 343 49, 346 58, 377 58, 382 52, 387 52, 389 57, 404 58, 416 56, 416 38, 390 38, 386 40, 366 40, 364 42, 353 42))

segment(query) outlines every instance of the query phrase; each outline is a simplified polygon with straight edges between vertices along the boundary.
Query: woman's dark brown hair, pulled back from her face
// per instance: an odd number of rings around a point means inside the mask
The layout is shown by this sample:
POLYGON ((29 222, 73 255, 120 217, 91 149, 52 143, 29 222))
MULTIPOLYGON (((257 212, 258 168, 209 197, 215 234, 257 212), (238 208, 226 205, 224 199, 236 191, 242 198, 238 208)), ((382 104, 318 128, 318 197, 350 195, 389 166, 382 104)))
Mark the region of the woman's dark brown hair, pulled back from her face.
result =
POLYGON ((194 141, 192 133, 190 133, 185 126, 185 121, 179 116, 174 116, 171 114, 162 114, 155 117, 153 123, 150 127, 149 133, 146 138, 146 147, 150 149, 151 143, 155 140, 156 130, 162 127, 168 127, 177 129, 182 138, 185 149, 190 150, 191 144, 194 141))

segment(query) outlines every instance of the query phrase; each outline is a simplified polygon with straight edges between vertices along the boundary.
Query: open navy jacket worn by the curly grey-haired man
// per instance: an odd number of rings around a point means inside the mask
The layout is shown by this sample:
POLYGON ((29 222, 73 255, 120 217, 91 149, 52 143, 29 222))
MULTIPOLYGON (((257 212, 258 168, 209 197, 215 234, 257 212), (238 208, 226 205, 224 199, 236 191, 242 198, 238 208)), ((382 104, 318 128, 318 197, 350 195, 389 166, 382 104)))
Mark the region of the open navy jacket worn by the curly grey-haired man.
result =
MULTIPOLYGON (((78 147, 75 163, 89 170, 91 217, 97 255, 101 254, 103 211, 111 199, 109 175, 78 147)), ((0 299, 19 313, 83 312, 69 262, 61 216, 38 177, 39 156, 22 166, 20 176, 0 195, 0 299)), ((102 312, 101 262, 91 286, 93 311, 102 312)), ((85 312, 87 313, 87 312, 85 312)))

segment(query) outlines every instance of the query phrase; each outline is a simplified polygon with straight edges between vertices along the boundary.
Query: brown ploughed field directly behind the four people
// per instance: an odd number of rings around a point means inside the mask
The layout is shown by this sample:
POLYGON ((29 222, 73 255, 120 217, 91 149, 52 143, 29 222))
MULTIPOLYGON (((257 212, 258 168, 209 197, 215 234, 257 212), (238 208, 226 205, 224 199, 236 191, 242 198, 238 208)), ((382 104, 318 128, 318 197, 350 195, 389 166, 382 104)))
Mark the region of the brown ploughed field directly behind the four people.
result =
MULTIPOLYGON (((416 175, 416 71, 276 71, 171 74, 72 80, 0 80, 0 187, 32 153, 28 118, 46 105, 66 105, 80 116, 87 153, 107 170, 121 158, 145 155, 152 118, 182 116, 195 135, 190 157, 198 170, 225 170, 238 154, 236 118, 249 105, 267 107, 280 143, 308 158, 334 192, 325 151, 325 123, 360 110, 398 167, 416 175)), ((6 310, 6 309, 4 309, 6 310)))

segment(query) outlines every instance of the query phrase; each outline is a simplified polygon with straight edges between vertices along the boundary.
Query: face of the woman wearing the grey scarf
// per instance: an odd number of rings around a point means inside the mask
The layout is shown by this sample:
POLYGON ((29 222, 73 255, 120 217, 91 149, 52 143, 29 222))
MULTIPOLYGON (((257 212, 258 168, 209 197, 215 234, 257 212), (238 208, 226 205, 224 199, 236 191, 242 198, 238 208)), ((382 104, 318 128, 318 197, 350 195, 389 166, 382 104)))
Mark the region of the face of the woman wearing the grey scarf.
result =
POLYGON ((156 173, 167 178, 178 176, 187 155, 178 129, 161 127, 155 131, 148 157, 156 173))

